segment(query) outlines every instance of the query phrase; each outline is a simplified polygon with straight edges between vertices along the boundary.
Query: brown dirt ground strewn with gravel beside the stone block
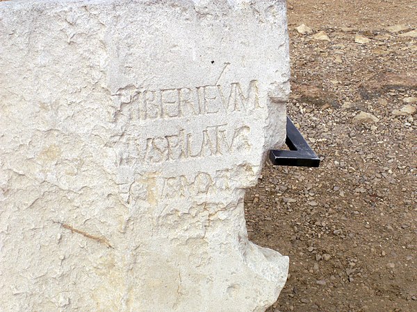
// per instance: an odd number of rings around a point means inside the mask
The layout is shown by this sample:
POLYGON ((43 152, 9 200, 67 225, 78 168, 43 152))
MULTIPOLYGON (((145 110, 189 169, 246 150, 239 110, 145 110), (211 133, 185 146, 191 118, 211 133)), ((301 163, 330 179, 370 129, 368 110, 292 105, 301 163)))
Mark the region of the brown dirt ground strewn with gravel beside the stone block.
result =
POLYGON ((250 239, 290 257, 268 311, 417 311, 417 2, 289 0, 288 23, 288 115, 322 164, 247 193, 250 239))

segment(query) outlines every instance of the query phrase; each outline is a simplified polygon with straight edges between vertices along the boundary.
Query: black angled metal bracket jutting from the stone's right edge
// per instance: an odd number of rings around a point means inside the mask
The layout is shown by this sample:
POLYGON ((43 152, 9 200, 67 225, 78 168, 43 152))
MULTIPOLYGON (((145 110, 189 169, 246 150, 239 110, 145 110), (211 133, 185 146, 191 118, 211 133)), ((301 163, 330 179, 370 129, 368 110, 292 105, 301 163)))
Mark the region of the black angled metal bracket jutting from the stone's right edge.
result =
POLYGON ((290 150, 270 150, 270 159, 275 166, 318 167, 320 158, 311 150, 293 121, 287 116, 286 146, 290 150))

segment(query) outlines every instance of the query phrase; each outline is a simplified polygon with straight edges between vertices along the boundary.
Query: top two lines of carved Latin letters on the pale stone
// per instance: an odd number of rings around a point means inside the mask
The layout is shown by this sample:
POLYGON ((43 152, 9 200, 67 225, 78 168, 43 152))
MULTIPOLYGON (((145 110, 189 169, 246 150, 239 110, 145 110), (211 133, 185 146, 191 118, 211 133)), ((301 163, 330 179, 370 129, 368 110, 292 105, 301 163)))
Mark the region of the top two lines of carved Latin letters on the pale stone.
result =
MULTIPOLYGON (((120 110, 115 121, 131 130, 127 131, 130 135, 125 137, 126 141, 115 141, 120 144, 118 163, 127 166, 136 162, 156 164, 247 153, 252 147, 250 127, 245 123, 231 126, 224 120, 234 112, 250 115, 261 108, 258 80, 247 85, 229 83, 158 90, 140 90, 130 85, 120 89, 117 96, 120 110), (221 116, 222 121, 216 116, 221 116), (175 120, 181 117, 188 117, 193 126, 188 121, 175 120), (142 129, 141 121, 148 121, 147 128, 142 129), (179 130, 167 130, 161 135, 160 127, 164 125, 158 121, 165 124, 172 121, 179 125, 176 127, 179 130), (158 135, 142 135, 145 129, 149 133, 153 127, 158 135), (137 135, 133 137, 133 133, 137 135)), ((236 118, 246 117, 240 114, 236 118)))

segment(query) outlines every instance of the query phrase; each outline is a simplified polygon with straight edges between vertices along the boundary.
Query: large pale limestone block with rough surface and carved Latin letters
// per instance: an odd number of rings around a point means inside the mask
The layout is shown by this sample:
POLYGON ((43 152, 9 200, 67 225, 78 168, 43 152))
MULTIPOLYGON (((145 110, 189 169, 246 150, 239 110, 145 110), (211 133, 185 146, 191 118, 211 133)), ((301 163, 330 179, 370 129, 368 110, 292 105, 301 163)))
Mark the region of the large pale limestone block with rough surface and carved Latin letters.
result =
POLYGON ((0 3, 0 309, 263 311, 243 197, 285 139, 284 0, 0 3))

